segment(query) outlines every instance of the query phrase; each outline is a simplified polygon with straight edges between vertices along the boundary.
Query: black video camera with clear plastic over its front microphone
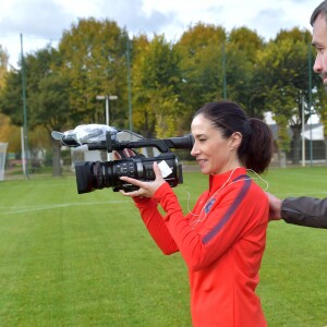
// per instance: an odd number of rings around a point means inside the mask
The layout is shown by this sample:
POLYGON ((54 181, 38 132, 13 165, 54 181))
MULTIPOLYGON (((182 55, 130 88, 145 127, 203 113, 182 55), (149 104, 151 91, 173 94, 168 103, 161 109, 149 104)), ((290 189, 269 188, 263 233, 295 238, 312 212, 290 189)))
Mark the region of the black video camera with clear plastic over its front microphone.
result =
POLYGON ((74 130, 61 133, 52 131, 55 140, 69 147, 80 147, 85 150, 107 150, 108 154, 118 152, 122 159, 109 161, 77 161, 75 162, 75 175, 78 194, 95 190, 112 187, 113 192, 123 190, 135 191, 138 186, 129 184, 120 177, 131 177, 141 181, 154 181, 155 161, 164 164, 160 168, 164 179, 171 187, 183 182, 182 165, 179 158, 170 152, 175 149, 192 149, 193 137, 187 134, 182 137, 171 138, 143 138, 131 131, 120 131, 116 128, 100 124, 78 125, 74 130), (136 141, 135 141, 136 140, 136 141), (160 154, 155 157, 145 157, 137 154, 135 148, 156 148, 160 154), (132 149, 135 154, 126 157, 124 149, 132 149))

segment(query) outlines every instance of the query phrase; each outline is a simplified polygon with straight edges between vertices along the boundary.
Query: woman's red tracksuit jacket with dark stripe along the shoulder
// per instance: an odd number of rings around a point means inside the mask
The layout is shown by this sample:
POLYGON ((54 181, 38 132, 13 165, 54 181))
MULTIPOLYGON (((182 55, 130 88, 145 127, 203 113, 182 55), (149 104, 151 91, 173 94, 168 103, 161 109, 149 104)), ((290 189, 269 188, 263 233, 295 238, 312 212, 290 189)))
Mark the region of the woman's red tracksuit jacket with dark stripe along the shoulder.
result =
POLYGON ((209 190, 186 216, 168 183, 153 198, 135 198, 157 245, 165 254, 180 251, 189 267, 194 326, 267 326, 255 288, 269 204, 245 173, 210 175, 209 190))

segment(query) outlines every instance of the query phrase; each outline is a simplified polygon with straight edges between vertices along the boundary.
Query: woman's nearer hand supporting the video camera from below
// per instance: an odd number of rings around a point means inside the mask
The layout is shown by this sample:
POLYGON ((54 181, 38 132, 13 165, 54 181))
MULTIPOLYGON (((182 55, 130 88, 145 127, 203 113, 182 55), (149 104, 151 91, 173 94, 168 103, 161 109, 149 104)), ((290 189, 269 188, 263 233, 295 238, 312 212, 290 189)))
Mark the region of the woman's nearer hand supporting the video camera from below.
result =
POLYGON ((120 179, 122 181, 136 185, 140 189, 137 191, 132 191, 132 192, 124 192, 123 190, 121 190, 120 193, 131 197, 134 196, 153 197, 156 191, 166 182, 162 178, 161 171, 156 161, 154 162, 154 172, 156 179, 153 182, 143 182, 129 177, 121 177, 120 179))

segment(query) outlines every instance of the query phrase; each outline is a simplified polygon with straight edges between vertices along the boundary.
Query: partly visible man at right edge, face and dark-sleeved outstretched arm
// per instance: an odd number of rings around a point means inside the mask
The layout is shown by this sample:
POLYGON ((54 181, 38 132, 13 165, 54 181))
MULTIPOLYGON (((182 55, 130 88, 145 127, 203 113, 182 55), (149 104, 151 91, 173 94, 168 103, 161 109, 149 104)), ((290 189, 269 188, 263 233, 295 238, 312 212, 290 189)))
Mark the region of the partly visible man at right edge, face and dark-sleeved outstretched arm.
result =
MULTIPOLYGON (((327 0, 313 11, 310 24, 313 26, 312 45, 317 50, 313 70, 319 74, 327 90, 327 0)), ((270 220, 283 219, 289 223, 327 228, 327 198, 301 196, 280 199, 272 194, 267 195, 270 220)))

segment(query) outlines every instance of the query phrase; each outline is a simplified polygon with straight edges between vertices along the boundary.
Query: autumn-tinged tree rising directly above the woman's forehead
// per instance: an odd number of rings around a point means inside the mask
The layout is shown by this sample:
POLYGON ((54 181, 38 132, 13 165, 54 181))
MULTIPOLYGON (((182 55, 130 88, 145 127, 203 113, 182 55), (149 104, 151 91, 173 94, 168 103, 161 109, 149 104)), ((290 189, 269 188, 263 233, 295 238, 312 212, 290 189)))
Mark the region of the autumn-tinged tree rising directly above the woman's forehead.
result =
POLYGON ((183 33, 174 45, 181 60, 181 98, 185 104, 185 120, 191 123, 193 113, 205 102, 223 95, 223 27, 197 23, 183 33))

